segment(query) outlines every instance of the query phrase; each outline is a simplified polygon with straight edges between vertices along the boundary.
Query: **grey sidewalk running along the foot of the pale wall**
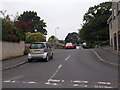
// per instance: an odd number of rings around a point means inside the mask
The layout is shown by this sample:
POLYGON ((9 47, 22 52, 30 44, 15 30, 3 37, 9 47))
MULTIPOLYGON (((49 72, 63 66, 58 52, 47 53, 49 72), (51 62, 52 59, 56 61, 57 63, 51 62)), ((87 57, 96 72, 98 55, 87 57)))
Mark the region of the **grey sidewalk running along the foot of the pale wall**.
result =
POLYGON ((2 61, 2 70, 10 69, 27 62, 27 55, 2 61))

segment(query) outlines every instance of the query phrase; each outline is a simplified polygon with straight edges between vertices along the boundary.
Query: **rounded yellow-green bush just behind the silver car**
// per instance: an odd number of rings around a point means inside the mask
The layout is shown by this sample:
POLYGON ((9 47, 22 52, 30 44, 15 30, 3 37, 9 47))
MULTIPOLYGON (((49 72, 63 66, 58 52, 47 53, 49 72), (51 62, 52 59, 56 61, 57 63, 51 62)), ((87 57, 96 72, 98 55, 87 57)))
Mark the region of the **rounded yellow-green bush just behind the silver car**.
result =
POLYGON ((46 41, 46 37, 40 32, 26 33, 26 43, 45 42, 45 41, 46 41))

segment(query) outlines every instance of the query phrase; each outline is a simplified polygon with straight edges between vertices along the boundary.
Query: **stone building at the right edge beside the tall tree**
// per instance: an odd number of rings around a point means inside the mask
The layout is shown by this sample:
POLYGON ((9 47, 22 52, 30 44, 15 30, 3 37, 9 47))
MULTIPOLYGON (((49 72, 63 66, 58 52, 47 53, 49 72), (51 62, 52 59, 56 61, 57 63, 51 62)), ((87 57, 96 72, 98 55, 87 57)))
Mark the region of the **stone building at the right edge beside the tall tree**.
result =
POLYGON ((112 2, 112 15, 108 19, 110 46, 120 51, 120 1, 112 2))

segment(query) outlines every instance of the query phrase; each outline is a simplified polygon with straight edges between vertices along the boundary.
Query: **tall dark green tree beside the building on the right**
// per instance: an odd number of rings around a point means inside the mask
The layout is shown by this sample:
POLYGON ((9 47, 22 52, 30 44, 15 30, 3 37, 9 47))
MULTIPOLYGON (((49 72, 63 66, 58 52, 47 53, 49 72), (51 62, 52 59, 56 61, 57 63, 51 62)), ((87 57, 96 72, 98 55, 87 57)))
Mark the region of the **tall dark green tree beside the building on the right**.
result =
POLYGON ((109 40, 107 20, 111 15, 111 2, 104 2, 90 7, 83 17, 83 26, 79 30, 82 41, 95 43, 109 40))

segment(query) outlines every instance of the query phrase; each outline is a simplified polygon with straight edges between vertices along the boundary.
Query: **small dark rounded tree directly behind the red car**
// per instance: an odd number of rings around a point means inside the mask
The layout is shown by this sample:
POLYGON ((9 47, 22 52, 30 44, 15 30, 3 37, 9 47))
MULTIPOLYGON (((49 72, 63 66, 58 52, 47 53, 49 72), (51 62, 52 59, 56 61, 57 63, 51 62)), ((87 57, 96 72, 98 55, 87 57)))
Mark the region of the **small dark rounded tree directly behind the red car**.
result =
POLYGON ((78 43, 78 34, 76 32, 69 33, 65 38, 65 43, 71 42, 73 44, 78 43))

